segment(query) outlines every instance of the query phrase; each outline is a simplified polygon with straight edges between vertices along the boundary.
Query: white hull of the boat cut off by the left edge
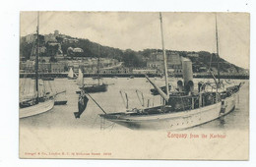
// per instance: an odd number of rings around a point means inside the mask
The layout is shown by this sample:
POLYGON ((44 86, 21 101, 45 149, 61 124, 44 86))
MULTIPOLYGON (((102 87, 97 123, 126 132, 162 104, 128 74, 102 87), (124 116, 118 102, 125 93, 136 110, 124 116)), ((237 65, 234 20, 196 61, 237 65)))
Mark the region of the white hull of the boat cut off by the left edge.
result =
POLYGON ((30 107, 20 109, 20 118, 31 117, 51 110, 54 106, 54 99, 49 99, 44 102, 32 105, 30 107))

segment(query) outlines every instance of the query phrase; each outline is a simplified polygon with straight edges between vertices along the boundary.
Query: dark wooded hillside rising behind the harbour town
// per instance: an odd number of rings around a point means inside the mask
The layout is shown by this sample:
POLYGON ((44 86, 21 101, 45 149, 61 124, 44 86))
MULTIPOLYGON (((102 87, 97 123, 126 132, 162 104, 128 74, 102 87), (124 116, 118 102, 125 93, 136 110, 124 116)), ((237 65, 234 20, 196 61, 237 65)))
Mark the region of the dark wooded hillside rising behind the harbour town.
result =
MULTIPOLYGON (((61 49, 63 55, 68 55, 67 52, 69 47, 73 48, 81 48, 83 49, 83 53, 76 55, 79 57, 104 57, 104 58, 113 58, 117 59, 118 61, 124 62, 126 67, 130 68, 145 68, 147 66, 147 58, 151 56, 153 52, 160 51, 158 49, 144 49, 143 51, 134 51, 131 49, 121 50, 118 48, 102 46, 96 42, 90 41, 89 39, 83 38, 73 38, 71 36, 62 35, 62 36, 55 36, 57 43, 61 45, 61 49), (74 39, 76 42, 65 42, 65 39, 74 39)), ((34 43, 34 42, 33 42, 34 43)), ((40 36, 40 45, 45 46, 46 51, 40 53, 40 56, 54 56, 54 53, 57 52, 57 47, 50 47, 46 42, 43 36, 40 36), (55 49, 55 51, 54 51, 55 49)), ((26 36, 21 38, 20 43, 20 54, 25 59, 29 59, 32 55, 32 43, 28 43, 26 41, 26 36)), ((166 50, 166 52, 170 52, 170 50, 166 50)), ((217 71, 217 61, 218 58, 216 54, 210 53, 207 51, 200 51, 200 52, 187 52, 187 51, 174 51, 178 53, 180 56, 188 57, 191 59, 193 63, 193 71, 200 72, 200 69, 210 68, 213 71, 217 71), (189 53, 198 54, 198 57, 191 57, 189 53)), ((53 58, 54 59, 54 58, 53 58)), ((243 68, 237 67, 233 64, 228 63, 224 59, 220 59, 220 69, 221 72, 224 73, 245 73, 243 68)))

